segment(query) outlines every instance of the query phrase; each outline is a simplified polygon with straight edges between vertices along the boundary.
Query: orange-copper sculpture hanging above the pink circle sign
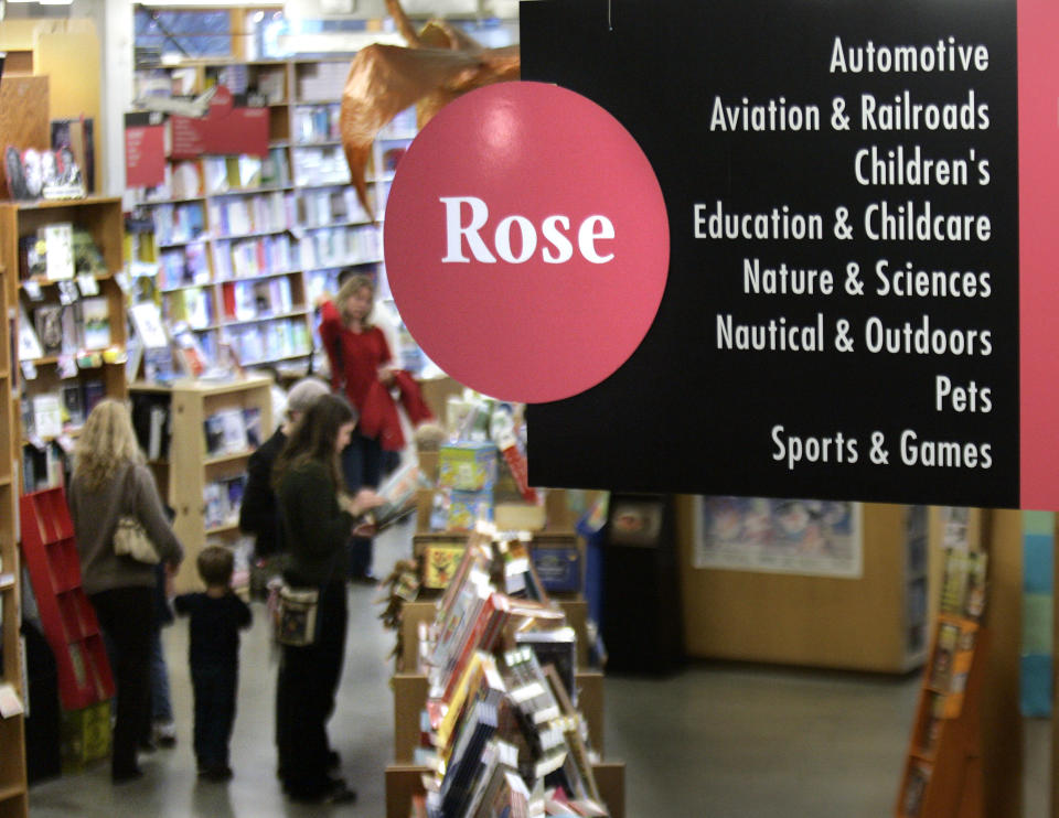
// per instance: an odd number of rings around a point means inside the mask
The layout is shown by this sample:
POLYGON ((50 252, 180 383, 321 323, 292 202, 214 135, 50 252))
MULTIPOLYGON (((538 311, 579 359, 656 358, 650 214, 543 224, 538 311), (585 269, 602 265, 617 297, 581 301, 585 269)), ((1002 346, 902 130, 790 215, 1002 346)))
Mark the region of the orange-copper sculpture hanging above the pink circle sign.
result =
POLYGON ((364 171, 372 142, 398 112, 416 105, 422 128, 461 94, 520 73, 518 46, 486 49, 443 20, 431 20, 416 33, 398 0, 386 8, 408 47, 368 45, 357 52, 342 92, 339 125, 345 160, 356 195, 374 217, 364 171))

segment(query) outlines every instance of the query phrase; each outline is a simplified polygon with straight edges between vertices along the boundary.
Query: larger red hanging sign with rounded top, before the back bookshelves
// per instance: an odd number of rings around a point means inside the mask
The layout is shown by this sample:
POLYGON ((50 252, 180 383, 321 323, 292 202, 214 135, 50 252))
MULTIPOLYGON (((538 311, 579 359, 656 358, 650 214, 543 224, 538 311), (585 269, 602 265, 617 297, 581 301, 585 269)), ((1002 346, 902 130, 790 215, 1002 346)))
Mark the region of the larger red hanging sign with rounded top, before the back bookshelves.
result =
POLYGON ((233 105, 232 92, 223 85, 210 100, 201 119, 170 117, 171 159, 197 159, 203 153, 268 155, 268 108, 233 105))

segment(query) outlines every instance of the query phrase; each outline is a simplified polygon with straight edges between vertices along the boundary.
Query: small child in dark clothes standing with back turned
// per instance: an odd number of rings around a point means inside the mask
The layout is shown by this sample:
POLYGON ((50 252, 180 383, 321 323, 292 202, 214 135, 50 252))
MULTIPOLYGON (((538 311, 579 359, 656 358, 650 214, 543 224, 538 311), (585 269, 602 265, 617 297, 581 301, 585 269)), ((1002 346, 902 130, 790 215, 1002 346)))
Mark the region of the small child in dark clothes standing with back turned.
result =
POLYGON ((239 628, 249 627, 250 609, 232 592, 232 551, 223 546, 202 549, 199 575, 205 593, 185 593, 173 600, 178 614, 190 620, 191 681, 195 693, 195 758, 199 775, 227 781, 228 741, 235 722, 235 691, 239 678, 239 628))

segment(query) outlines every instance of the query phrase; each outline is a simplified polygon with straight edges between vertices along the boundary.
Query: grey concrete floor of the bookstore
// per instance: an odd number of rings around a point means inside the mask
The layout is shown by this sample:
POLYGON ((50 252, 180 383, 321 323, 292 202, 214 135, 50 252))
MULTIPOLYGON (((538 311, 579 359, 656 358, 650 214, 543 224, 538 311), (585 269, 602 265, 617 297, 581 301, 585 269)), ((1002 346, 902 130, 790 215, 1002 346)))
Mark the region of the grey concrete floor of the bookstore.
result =
MULTIPOLYGON (((393 530, 393 529, 392 529, 393 530)), ((379 538, 376 567, 407 551, 409 532, 379 538)), ((147 775, 113 787, 108 766, 35 785, 33 818, 270 818, 332 811, 382 818, 383 769, 393 756, 393 699, 386 656, 393 637, 373 604, 351 590, 350 643, 331 741, 353 806, 292 805, 275 777, 276 657, 264 606, 244 636, 239 712, 232 745, 235 778, 204 784, 191 752, 186 626, 167 628, 179 744, 141 756, 147 775)), ((714 818, 880 818, 894 814, 919 679, 698 665, 655 680, 608 677, 607 757, 627 763, 627 815, 714 818)), ((1025 818, 1047 815, 1048 723, 1027 722, 1025 818)), ((1014 818, 1014 817, 1013 817, 1014 818)))

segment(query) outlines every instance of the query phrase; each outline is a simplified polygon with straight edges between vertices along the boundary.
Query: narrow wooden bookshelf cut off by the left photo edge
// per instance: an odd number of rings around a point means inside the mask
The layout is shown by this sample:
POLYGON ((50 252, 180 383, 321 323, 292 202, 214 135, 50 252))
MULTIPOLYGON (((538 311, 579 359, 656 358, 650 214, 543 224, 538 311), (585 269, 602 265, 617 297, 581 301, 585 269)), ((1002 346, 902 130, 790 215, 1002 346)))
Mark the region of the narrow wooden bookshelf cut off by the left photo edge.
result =
POLYGON ((29 815, 22 687, 21 577, 15 528, 19 439, 15 429, 18 325, 9 317, 10 273, 0 263, 0 818, 29 815))

